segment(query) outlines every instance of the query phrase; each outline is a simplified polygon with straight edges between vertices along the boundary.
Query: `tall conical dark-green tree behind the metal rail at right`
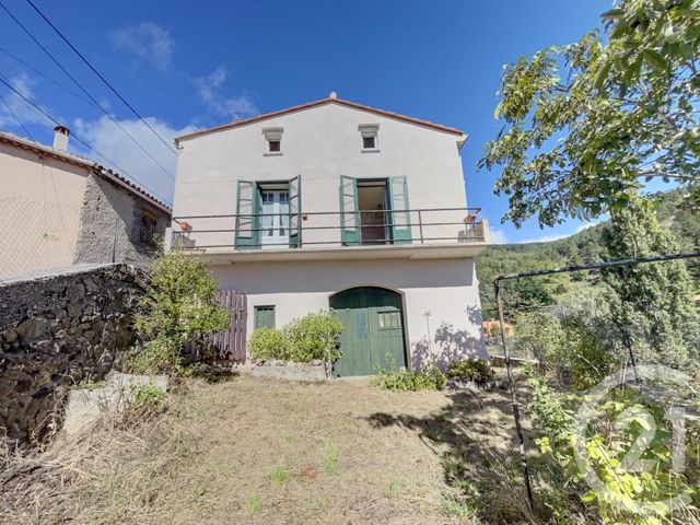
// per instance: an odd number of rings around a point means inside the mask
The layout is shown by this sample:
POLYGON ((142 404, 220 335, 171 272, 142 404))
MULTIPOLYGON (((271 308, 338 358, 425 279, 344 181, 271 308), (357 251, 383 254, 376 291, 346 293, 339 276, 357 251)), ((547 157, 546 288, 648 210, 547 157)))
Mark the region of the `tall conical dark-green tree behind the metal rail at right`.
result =
MULTIPOLYGON (((603 240, 609 259, 678 252, 674 237, 660 226, 653 202, 641 197, 612 211, 603 240)), ((642 359, 680 368, 697 358, 700 319, 685 261, 608 268, 602 276, 619 336, 629 338, 642 359)))

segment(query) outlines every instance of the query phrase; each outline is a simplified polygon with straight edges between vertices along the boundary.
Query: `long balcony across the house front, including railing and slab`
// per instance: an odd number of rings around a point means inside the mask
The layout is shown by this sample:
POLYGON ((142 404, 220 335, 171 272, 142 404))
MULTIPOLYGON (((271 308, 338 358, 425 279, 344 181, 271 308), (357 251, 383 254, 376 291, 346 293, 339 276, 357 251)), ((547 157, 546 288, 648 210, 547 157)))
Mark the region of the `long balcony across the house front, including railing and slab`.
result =
POLYGON ((171 246, 210 260, 472 257, 489 241, 478 208, 173 218, 171 246))

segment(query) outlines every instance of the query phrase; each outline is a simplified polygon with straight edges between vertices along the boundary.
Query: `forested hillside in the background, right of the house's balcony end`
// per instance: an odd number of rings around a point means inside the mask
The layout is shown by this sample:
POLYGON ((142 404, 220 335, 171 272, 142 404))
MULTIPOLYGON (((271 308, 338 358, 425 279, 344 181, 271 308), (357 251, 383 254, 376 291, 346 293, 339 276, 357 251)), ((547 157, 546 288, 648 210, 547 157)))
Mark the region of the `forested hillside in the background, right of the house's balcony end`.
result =
MULTIPOLYGON (((654 196, 657 200, 656 217, 662 226, 668 229, 684 252, 700 252, 700 213, 681 208, 681 194, 673 190, 654 196)), ((483 317, 495 316, 493 303, 493 278, 502 273, 541 270, 559 266, 596 262, 604 259, 603 231, 607 222, 583 230, 570 237, 548 243, 503 244, 490 246, 477 257, 477 276, 483 317)), ((700 260, 688 262, 700 289, 700 260)), ((517 281, 517 295, 511 300, 517 306, 550 304, 558 295, 576 283, 585 282, 585 276, 549 276, 517 281)), ((581 284, 579 284, 581 285, 581 284)), ((513 303, 511 303, 513 304, 513 303)))

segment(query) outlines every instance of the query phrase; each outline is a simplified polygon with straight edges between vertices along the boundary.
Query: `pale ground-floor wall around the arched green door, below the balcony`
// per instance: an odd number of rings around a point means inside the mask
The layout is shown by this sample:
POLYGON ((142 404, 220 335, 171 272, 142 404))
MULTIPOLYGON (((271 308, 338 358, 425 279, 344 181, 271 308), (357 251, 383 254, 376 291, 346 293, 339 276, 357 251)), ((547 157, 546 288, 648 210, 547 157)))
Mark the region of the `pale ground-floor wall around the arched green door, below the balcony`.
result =
POLYGON ((222 289, 248 293, 248 335, 254 307, 275 305, 276 324, 327 310, 329 296, 376 285, 404 295, 409 363, 440 366, 462 357, 487 357, 474 259, 246 262, 212 267, 222 289), (427 315, 430 314, 430 315, 427 315))

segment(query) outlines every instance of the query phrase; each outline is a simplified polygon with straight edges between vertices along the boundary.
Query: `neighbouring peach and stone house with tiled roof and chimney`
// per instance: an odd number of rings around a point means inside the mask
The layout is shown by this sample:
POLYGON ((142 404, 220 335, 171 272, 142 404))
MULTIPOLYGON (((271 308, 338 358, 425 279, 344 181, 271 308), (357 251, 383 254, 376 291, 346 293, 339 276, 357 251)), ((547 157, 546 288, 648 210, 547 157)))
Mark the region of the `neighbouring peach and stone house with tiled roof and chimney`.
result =
POLYGON ((80 262, 143 261, 171 209, 94 161, 0 132, 0 279, 80 262))

